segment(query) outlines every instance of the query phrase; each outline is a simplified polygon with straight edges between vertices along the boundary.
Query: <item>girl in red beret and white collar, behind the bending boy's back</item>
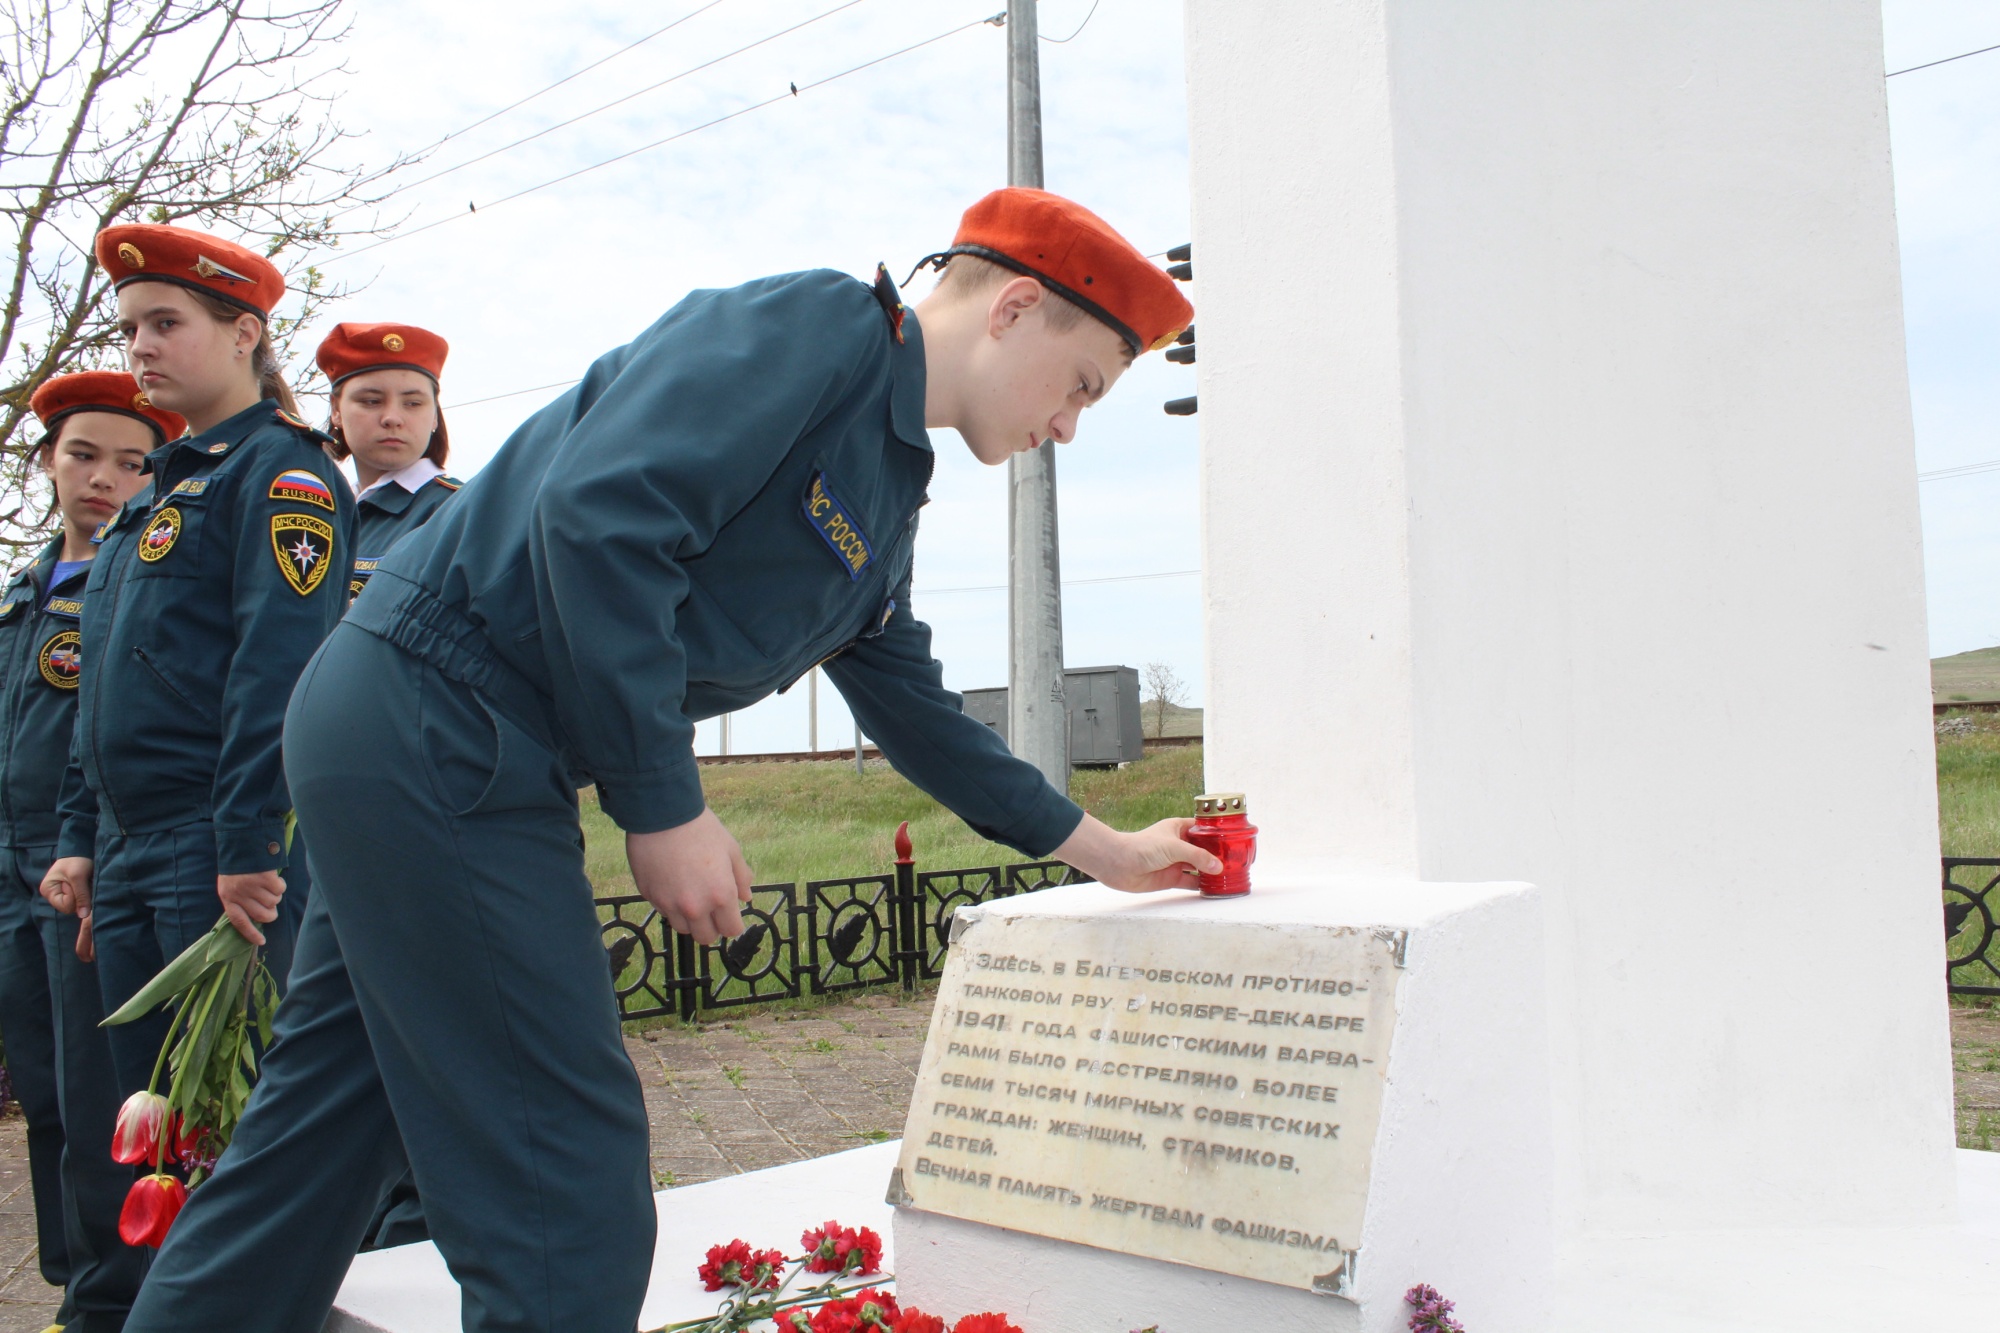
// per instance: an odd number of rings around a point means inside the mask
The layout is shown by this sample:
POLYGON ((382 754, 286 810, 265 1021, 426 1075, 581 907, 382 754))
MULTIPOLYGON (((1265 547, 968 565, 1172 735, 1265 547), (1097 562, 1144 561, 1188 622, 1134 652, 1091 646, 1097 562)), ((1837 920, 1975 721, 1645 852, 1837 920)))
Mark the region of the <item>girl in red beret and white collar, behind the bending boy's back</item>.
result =
POLYGON ((444 474, 452 440, 438 408, 450 350, 416 324, 334 324, 320 342, 320 370, 332 384, 332 454, 352 454, 360 480, 348 596, 360 596, 388 548, 458 492, 460 482, 444 474))

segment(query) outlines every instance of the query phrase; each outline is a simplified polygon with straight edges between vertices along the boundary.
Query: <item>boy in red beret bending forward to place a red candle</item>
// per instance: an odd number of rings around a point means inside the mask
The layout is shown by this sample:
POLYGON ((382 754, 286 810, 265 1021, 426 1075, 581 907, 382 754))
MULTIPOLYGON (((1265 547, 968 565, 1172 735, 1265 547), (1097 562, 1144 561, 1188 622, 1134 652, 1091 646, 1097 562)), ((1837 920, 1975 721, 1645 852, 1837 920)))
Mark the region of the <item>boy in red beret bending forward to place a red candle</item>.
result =
POLYGON ((1190 821, 1116 833, 1008 755, 910 614, 926 424, 986 462, 1066 440, 1192 310, 1040 190, 982 200, 958 240, 992 280, 914 314, 886 274, 690 294, 376 568, 286 719, 318 883, 278 1041, 128 1333, 316 1331, 404 1161, 466 1329, 632 1333, 646 1105, 568 771, 676 931, 738 933, 750 871, 694 723, 828 654, 884 755, 984 835, 1120 889, 1220 867, 1190 821))

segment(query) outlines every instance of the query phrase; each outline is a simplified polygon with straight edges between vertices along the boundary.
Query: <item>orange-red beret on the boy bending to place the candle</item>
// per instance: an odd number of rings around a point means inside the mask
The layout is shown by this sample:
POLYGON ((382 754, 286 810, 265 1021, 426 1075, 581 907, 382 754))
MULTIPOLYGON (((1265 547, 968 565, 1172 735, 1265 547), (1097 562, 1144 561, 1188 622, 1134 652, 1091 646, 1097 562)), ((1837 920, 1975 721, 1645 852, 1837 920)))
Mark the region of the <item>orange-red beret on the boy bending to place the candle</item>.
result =
POLYGON ((1036 278, 1112 328, 1132 354, 1162 348, 1194 322, 1166 270, 1112 224, 1048 190, 1010 186, 966 208, 952 248, 1036 278))

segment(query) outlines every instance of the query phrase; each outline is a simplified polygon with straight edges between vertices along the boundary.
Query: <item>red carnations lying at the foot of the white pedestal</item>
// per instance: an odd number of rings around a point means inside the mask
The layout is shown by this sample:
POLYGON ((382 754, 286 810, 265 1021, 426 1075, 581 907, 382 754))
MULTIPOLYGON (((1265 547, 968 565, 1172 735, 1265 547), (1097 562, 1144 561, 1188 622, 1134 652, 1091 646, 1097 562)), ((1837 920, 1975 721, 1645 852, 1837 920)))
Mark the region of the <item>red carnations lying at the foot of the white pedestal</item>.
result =
POLYGON ((672 1323, 658 1333, 1022 1333, 1006 1315, 966 1315, 946 1325, 938 1315, 902 1307, 884 1287, 882 1237, 868 1227, 828 1221, 798 1237, 804 1253, 752 1249, 748 1241, 710 1245, 694 1271, 708 1291, 728 1291, 708 1319, 672 1323), (812 1279, 820 1281, 812 1281, 812 1279), (868 1281, 874 1279, 874 1281, 868 1281))

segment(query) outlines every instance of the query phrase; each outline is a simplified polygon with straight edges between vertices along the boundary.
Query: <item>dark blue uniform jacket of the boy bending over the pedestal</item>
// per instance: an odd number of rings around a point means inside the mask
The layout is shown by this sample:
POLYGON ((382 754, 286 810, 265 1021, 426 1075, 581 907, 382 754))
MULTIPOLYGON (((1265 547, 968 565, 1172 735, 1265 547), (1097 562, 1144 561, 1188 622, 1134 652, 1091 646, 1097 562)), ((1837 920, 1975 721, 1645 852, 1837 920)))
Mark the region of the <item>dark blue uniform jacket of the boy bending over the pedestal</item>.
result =
POLYGON ((354 618, 426 590, 478 626, 636 833, 702 813, 698 719, 830 658, 898 771, 1050 853, 1082 811, 964 715, 910 612, 934 460, 914 316, 904 330, 838 272, 690 294, 528 418, 354 618))

